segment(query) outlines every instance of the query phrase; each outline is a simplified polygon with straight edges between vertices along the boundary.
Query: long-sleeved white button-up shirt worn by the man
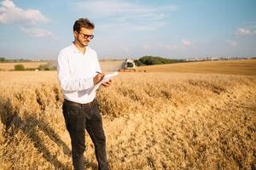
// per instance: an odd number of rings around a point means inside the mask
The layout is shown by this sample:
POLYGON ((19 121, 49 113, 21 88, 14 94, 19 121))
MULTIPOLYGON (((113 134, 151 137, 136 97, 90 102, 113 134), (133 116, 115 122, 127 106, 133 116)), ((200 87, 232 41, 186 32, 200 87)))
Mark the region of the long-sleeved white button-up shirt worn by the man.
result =
POLYGON ((89 93, 94 86, 96 71, 102 72, 96 51, 87 46, 82 54, 72 43, 61 50, 57 65, 58 79, 65 99, 86 104, 96 97, 95 91, 89 93))

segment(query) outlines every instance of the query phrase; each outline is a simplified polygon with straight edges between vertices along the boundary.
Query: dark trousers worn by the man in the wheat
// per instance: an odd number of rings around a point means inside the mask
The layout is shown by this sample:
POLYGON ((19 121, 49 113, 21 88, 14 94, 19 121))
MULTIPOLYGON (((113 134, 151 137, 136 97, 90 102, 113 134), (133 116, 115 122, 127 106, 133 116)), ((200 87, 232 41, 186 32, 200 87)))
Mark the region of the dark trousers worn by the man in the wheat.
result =
POLYGON ((95 146, 99 169, 109 169, 102 115, 96 99, 89 104, 78 104, 64 99, 62 110, 71 138, 74 169, 84 170, 85 128, 95 146))

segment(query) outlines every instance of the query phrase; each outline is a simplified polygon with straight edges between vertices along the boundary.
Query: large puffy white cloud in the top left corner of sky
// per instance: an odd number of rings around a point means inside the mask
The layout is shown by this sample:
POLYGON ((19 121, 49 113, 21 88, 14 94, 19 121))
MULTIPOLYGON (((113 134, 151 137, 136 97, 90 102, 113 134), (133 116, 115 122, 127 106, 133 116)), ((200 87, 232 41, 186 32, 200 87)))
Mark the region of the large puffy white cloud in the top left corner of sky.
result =
POLYGON ((10 0, 3 0, 0 6, 0 24, 36 24, 47 22, 48 19, 37 9, 16 7, 10 0))

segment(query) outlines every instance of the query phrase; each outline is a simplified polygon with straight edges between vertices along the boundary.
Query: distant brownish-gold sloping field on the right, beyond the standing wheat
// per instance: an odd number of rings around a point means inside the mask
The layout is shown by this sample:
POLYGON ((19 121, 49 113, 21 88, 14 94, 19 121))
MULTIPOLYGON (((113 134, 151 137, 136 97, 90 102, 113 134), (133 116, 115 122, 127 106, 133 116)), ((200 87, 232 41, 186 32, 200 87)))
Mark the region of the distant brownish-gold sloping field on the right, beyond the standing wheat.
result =
POLYGON ((149 72, 194 72, 256 76, 256 59, 201 61, 169 65, 141 66, 138 70, 149 72))

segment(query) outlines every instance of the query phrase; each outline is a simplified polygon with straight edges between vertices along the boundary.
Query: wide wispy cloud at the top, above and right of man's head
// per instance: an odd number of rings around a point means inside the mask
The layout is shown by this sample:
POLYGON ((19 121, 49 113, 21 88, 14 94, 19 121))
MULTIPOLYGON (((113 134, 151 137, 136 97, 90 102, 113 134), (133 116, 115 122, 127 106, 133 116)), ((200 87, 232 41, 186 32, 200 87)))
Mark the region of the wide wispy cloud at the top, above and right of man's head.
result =
POLYGON ((124 0, 96 0, 75 3, 76 8, 97 18, 107 18, 108 23, 99 27, 129 28, 131 31, 154 31, 166 26, 170 11, 177 10, 175 5, 148 6, 124 0))

